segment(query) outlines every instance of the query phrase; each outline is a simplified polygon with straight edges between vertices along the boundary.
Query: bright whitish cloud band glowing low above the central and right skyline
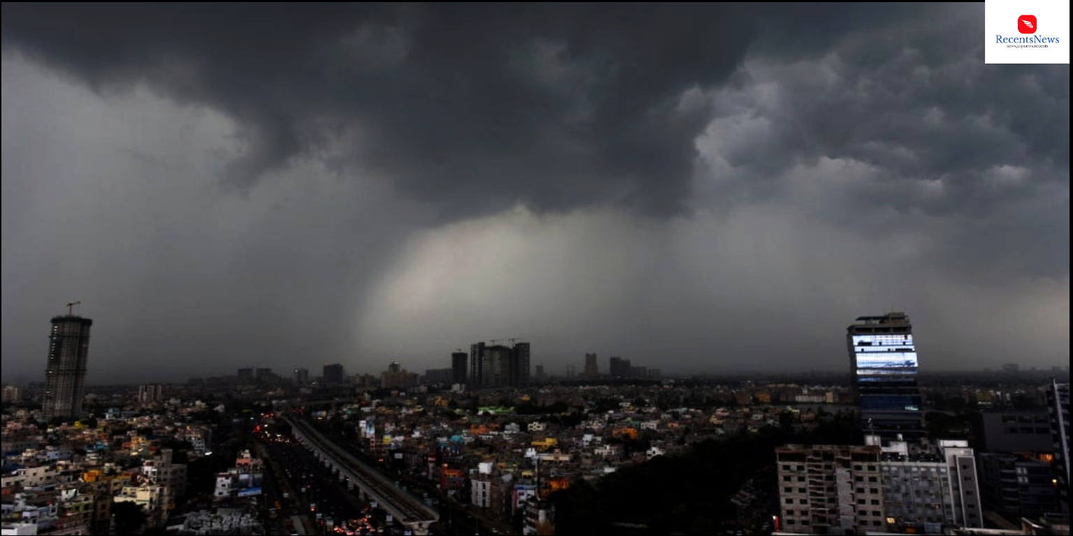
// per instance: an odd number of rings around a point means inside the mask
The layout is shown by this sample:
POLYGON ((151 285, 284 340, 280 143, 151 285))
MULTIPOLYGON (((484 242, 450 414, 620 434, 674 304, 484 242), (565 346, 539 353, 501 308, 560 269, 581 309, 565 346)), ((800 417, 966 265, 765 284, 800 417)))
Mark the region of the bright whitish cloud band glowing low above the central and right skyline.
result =
POLYGON ((981 287, 934 266, 934 240, 862 236, 783 202, 674 220, 515 209, 412 239, 357 339, 411 370, 520 337, 555 374, 587 352, 667 373, 837 371, 853 318, 908 309, 929 370, 1061 362, 1068 276, 981 287))

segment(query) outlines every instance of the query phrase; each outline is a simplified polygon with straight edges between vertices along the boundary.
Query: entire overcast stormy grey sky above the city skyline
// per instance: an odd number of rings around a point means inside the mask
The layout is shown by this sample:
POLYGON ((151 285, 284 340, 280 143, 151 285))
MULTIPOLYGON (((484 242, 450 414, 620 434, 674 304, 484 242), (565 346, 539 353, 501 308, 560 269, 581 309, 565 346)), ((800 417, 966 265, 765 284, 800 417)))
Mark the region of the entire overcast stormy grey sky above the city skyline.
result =
POLYGON ((3 382, 1068 364, 1069 65, 978 4, 2 8, 3 382))

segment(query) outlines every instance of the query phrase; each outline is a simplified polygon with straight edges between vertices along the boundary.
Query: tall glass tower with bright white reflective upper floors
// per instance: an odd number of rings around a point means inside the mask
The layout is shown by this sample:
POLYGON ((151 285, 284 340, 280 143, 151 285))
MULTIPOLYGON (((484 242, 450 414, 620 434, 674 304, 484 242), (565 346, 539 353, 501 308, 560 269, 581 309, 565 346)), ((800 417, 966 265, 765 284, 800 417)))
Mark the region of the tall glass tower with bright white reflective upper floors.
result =
POLYGON ((901 312, 861 316, 847 328, 846 339, 865 433, 920 442, 924 413, 909 316, 901 312))

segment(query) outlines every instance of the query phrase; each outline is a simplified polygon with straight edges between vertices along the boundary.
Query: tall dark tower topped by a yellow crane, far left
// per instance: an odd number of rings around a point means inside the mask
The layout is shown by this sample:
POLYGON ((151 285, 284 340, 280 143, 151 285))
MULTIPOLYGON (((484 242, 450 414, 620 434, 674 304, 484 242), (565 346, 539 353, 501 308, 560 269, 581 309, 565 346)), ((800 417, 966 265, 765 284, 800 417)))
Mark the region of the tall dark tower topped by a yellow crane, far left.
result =
POLYGON ((45 419, 76 418, 82 415, 82 397, 89 357, 89 328, 93 321, 67 314, 54 316, 48 333, 48 364, 45 368, 45 419))

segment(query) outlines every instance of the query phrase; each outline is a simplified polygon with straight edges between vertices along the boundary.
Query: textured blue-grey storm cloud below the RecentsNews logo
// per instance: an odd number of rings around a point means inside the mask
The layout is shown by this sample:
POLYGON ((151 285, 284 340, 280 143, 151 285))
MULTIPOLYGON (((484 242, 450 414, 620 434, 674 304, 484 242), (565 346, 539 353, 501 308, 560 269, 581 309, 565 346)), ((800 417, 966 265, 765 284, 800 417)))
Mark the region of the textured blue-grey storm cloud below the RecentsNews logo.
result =
POLYGON ((1068 274, 1069 69, 983 63, 982 25, 978 6, 938 5, 821 54, 758 50, 717 96, 716 195, 787 196, 791 169, 859 163, 866 177, 824 192, 824 218, 941 236, 932 262, 962 274, 1068 274))

